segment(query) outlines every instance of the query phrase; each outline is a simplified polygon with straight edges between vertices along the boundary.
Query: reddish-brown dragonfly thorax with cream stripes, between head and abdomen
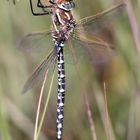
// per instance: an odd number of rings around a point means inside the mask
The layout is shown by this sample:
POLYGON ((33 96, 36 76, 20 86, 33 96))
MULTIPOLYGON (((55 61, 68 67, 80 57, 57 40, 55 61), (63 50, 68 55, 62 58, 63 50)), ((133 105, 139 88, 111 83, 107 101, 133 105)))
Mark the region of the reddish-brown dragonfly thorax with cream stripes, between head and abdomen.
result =
POLYGON ((53 31, 52 36, 54 40, 66 41, 73 33, 75 27, 75 20, 71 11, 64 11, 56 7, 53 14, 53 31))

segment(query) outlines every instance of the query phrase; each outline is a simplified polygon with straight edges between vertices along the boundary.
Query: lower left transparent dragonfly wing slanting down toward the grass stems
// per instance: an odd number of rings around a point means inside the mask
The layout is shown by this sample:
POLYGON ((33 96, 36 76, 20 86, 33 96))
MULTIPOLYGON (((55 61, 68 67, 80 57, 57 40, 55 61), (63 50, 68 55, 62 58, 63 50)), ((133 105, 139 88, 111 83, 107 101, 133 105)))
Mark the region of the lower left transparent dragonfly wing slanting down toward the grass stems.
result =
POLYGON ((57 58, 56 51, 55 49, 53 49, 29 77, 29 79, 24 85, 22 93, 26 93, 28 90, 38 85, 39 82, 42 82, 46 71, 55 62, 56 58, 57 58))

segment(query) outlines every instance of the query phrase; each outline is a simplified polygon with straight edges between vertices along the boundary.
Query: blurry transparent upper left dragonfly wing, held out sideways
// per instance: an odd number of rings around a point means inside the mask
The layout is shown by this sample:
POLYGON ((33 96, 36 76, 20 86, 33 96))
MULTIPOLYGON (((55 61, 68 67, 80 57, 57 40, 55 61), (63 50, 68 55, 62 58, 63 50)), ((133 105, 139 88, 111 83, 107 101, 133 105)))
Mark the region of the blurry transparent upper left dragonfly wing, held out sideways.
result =
POLYGON ((52 43, 51 30, 48 30, 27 34, 17 42, 17 47, 27 53, 47 52, 47 49, 50 49, 47 46, 52 46, 52 43))

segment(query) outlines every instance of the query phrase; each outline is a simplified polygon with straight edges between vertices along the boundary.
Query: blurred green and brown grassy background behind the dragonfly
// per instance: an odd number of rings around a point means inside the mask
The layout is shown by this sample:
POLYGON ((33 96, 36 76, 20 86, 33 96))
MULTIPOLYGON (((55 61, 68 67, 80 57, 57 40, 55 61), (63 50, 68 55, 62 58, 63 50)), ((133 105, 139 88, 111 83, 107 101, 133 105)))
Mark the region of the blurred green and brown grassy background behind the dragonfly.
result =
MULTIPOLYGON (((78 20, 120 2, 76 0, 74 16, 78 20)), ((112 16, 102 34, 114 47, 108 61, 98 63, 91 51, 88 56, 94 61, 79 62, 77 72, 70 57, 66 59, 64 140, 92 140, 95 134, 98 140, 140 139, 140 1, 125 2, 127 6, 123 12, 112 16)), ((34 0, 34 3, 37 1, 34 0)), ((24 95, 21 91, 47 52, 39 47, 35 53, 32 49, 25 53, 17 47, 17 42, 28 33, 50 27, 50 17, 34 17, 31 14, 28 0, 16 1, 16 5, 12 0, 0 0, 0 140, 33 139, 41 87, 24 95)), ((49 73, 42 109, 51 75, 49 73)), ((57 71, 55 77, 40 139, 55 139, 57 71)))

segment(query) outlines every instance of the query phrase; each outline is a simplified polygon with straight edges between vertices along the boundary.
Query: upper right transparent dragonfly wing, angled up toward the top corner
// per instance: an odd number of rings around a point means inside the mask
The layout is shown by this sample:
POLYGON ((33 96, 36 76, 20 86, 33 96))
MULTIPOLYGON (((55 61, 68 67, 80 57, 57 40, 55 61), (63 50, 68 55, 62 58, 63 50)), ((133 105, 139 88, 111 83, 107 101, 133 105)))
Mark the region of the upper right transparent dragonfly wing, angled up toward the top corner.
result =
POLYGON ((75 32, 84 31, 84 33, 94 35, 104 28, 109 29, 111 23, 118 20, 124 9, 125 4, 121 3, 96 15, 83 18, 77 22, 75 32))

